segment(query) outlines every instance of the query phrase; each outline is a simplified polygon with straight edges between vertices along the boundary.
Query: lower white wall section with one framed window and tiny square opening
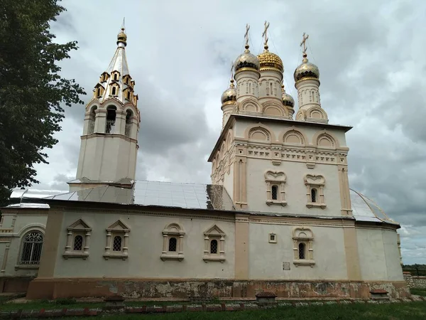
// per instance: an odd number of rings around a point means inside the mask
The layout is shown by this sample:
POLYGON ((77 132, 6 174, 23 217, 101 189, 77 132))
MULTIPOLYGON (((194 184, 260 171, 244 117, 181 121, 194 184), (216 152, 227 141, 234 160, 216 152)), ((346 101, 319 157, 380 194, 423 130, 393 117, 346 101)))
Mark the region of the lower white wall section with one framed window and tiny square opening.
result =
POLYGON ((294 225, 249 225, 250 279, 346 279, 347 268, 342 228, 310 227, 315 265, 293 264, 294 225), (270 243, 269 233, 275 233, 276 243, 270 243), (290 270, 283 270, 290 262, 290 270))

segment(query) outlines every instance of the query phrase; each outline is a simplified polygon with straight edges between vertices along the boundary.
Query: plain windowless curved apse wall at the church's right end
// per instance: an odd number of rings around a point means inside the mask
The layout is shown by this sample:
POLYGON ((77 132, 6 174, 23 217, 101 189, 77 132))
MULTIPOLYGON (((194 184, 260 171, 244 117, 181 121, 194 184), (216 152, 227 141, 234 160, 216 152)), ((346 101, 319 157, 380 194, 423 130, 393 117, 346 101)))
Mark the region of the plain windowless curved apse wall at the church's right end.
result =
POLYGON ((396 231, 358 228, 356 235, 363 280, 403 280, 396 231))

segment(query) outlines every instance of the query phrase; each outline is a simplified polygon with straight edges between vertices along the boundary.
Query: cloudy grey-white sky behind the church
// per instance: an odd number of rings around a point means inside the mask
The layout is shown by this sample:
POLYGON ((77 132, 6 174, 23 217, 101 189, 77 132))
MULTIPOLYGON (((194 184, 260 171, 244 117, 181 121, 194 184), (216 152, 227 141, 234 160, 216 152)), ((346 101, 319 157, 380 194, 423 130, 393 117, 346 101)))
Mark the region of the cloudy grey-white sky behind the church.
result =
MULTIPOLYGON (((80 49, 62 63, 90 94, 116 48, 126 17, 127 59, 136 80, 138 179, 209 182, 209 155, 222 127, 220 95, 231 60, 260 53, 263 22, 270 50, 293 71, 307 53, 321 71, 329 123, 347 124, 351 188, 398 220, 405 263, 426 263, 426 2, 375 1, 136 1, 65 0, 53 23, 57 41, 80 49)), ((83 98, 88 101, 89 96, 83 98)), ((49 165, 37 166, 37 188, 67 190, 75 178, 84 107, 67 108, 49 165)))

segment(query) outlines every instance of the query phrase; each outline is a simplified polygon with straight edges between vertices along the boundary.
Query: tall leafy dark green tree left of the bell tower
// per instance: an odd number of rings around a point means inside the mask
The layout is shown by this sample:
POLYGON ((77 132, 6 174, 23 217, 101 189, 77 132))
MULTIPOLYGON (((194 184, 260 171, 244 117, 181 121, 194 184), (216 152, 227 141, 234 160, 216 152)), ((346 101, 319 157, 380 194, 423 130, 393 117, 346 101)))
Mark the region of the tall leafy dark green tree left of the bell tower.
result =
POLYGON ((60 75, 58 61, 77 42, 55 43, 50 23, 65 11, 59 0, 0 0, 0 206, 11 189, 31 186, 33 164, 58 143, 64 108, 83 104, 84 90, 60 75))

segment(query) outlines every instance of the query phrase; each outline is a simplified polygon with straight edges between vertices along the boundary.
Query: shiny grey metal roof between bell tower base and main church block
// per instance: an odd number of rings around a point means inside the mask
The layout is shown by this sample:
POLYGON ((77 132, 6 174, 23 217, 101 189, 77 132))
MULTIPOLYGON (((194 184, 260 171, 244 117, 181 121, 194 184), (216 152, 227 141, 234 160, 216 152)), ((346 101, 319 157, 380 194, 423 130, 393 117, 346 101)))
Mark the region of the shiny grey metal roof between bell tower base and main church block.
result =
POLYGON ((45 199, 119 203, 139 206, 235 210, 223 186, 201 183, 135 181, 132 188, 99 186, 45 199))

